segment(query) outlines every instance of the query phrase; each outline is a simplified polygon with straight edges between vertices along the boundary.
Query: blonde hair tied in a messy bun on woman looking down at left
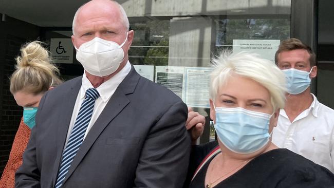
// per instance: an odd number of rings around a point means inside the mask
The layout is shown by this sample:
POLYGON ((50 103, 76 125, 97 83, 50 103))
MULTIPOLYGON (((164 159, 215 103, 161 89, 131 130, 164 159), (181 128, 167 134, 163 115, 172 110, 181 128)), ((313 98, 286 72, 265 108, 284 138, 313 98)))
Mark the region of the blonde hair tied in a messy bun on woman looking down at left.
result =
POLYGON ((12 94, 24 91, 38 95, 62 83, 57 76, 59 69, 51 63, 49 52, 42 44, 34 41, 21 48, 21 55, 16 58, 16 70, 10 77, 12 94))

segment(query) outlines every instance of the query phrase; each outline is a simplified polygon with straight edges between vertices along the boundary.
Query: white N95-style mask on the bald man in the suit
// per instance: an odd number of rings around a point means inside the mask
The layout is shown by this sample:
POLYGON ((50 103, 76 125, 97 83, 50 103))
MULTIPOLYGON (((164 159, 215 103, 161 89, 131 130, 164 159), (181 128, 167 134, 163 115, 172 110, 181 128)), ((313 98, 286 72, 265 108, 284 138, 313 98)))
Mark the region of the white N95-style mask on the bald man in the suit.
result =
POLYGON ((108 76, 114 73, 124 60, 122 46, 126 40, 127 33, 126 39, 121 45, 95 37, 93 40, 83 43, 79 49, 76 48, 77 60, 90 74, 98 77, 108 76))

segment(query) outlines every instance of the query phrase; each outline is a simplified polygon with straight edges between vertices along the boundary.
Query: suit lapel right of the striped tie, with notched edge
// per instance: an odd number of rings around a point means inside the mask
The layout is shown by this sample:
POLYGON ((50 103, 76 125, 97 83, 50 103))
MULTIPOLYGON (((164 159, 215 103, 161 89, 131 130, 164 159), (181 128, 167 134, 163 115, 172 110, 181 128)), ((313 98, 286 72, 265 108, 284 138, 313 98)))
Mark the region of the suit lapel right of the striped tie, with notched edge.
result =
POLYGON ((130 102, 126 95, 134 92, 138 81, 139 74, 135 71, 132 66, 131 71, 121 82, 121 84, 116 89, 112 98, 108 101, 107 105, 104 107, 99 118, 96 120, 94 125, 89 130, 85 140, 83 141, 80 149, 71 163, 68 173, 64 179, 63 184, 71 176, 71 174, 76 170, 86 153, 89 151, 90 147, 98 139, 105 127, 110 124, 110 122, 124 109, 124 107, 130 102))

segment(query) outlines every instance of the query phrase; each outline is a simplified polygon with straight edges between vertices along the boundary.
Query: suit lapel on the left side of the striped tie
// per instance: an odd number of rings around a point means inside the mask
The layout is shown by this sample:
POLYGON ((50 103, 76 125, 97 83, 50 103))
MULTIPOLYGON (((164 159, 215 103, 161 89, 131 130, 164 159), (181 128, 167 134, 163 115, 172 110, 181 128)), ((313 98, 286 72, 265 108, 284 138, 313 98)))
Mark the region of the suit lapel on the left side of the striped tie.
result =
POLYGON ((55 180, 57 179, 58 170, 60 166, 60 161, 63 155, 63 148, 65 145, 66 137, 67 137, 67 131, 69 127, 69 123, 71 121, 73 108, 75 106, 77 96, 79 93, 79 89, 82 84, 82 77, 76 78, 78 80, 75 81, 75 83, 71 86, 69 90, 65 90, 63 101, 61 103, 59 111, 61 111, 61 117, 58 118, 57 123, 57 142, 56 149, 57 153, 55 153, 55 162, 53 166, 53 177, 52 177, 52 185, 55 183, 55 180))

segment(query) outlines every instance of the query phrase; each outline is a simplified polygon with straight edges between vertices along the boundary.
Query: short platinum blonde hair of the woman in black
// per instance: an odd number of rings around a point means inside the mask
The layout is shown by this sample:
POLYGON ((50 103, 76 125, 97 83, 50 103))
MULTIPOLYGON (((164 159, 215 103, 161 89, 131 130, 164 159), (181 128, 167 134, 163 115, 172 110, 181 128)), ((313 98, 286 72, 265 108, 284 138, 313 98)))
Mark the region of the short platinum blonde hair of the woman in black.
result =
MULTIPOLYGON (((224 86, 230 77, 238 75, 252 79, 267 88, 274 110, 284 108, 285 75, 273 62, 259 58, 254 53, 223 51, 212 60, 212 64, 210 98, 213 101, 220 87, 224 86)), ((240 92, 244 92, 243 88, 240 88, 240 92)))

